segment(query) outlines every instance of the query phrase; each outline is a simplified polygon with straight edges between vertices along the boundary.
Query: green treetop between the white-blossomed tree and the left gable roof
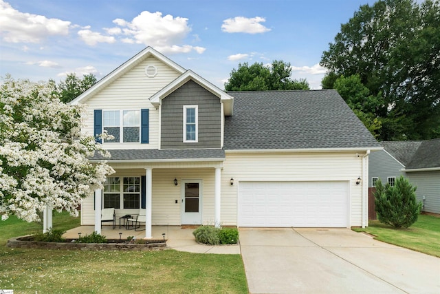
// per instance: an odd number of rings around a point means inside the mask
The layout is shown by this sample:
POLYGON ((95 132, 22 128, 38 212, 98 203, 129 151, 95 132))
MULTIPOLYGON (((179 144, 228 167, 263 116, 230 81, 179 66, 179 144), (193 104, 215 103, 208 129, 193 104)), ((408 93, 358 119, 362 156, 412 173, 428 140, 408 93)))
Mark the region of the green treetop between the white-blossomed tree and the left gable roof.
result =
MULTIPOLYGON (((60 96, 60 100, 64 103, 69 103, 83 94, 89 87, 95 85, 97 82, 93 74, 85 74, 83 78, 76 76, 76 74, 67 74, 64 81, 55 86, 56 93, 60 96)), ((52 80, 50 83, 54 84, 52 80)))

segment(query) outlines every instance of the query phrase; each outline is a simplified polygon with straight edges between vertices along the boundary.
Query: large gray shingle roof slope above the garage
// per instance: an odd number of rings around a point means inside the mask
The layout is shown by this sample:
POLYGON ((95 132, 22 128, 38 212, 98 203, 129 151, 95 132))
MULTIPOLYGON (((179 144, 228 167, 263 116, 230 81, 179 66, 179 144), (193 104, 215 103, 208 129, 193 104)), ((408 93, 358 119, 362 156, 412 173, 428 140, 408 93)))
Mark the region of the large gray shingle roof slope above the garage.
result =
POLYGON ((228 94, 225 149, 380 147, 336 90, 228 94))

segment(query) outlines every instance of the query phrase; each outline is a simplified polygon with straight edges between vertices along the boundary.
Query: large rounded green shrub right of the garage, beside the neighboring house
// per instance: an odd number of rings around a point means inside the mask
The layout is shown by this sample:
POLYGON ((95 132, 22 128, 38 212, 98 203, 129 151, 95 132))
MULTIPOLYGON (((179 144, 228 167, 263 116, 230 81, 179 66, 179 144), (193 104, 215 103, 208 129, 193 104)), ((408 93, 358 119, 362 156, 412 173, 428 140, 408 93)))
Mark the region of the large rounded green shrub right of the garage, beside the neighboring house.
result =
POLYGON ((410 182, 400 176, 395 181, 395 187, 382 185, 377 181, 374 193, 377 218, 384 224, 399 228, 408 228, 419 217, 421 202, 415 198, 415 190, 410 182))

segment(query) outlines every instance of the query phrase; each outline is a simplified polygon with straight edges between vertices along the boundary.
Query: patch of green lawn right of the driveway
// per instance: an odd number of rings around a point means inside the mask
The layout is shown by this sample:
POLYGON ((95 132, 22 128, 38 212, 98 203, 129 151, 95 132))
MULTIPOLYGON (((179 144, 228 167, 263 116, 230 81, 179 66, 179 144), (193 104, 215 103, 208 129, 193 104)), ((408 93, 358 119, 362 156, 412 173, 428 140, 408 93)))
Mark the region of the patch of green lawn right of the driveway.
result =
POLYGON ((422 214, 408 229, 394 229, 373 220, 369 222, 369 227, 356 228, 354 231, 364 231, 374 235, 377 240, 440 258, 440 218, 434 216, 422 214))

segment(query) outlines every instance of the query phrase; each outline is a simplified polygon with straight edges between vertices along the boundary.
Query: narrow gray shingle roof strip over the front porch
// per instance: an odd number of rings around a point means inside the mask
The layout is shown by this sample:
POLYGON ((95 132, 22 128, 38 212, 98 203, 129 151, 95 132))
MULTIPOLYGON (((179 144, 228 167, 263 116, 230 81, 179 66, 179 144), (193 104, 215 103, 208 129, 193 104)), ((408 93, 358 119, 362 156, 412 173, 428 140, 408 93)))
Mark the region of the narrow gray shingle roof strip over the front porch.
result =
POLYGON ((113 149, 109 150, 111 158, 95 154, 91 160, 181 160, 181 159, 222 159, 225 158, 223 149, 113 149))

